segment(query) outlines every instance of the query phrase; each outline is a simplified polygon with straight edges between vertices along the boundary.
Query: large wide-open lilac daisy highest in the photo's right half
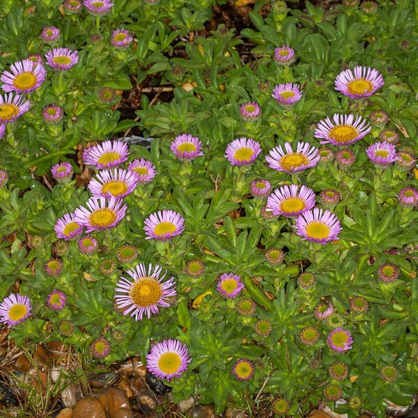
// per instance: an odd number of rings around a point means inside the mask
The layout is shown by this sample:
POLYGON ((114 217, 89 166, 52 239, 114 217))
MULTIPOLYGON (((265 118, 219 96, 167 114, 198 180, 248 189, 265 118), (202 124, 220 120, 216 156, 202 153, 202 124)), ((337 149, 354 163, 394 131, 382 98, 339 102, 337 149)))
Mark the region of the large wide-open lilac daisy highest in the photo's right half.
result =
POLYGON ((335 79, 335 89, 351 99, 366 98, 383 86, 383 76, 378 70, 357 65, 351 70, 340 72, 335 79))

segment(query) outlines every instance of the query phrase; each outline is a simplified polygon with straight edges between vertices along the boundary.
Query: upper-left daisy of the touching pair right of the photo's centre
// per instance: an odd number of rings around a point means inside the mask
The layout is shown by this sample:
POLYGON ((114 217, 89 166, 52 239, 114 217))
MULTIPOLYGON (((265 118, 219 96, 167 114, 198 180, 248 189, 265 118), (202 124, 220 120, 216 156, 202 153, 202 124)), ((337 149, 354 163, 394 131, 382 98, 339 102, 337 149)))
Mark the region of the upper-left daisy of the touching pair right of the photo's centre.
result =
POLYGON ((302 186, 298 191, 297 185, 284 185, 274 190, 267 199, 267 210, 273 215, 295 217, 315 206, 315 193, 309 187, 302 186))

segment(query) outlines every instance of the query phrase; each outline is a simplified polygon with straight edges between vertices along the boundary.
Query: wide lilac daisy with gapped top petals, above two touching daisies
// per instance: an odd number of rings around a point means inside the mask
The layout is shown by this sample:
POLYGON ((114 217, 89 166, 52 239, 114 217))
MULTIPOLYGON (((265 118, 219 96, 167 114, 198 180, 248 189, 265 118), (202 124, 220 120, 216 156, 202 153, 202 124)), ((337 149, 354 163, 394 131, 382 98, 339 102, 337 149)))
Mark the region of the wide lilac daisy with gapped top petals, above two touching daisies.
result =
POLYGON ((265 157, 270 169, 296 173, 315 167, 320 160, 318 148, 311 147, 307 142, 298 142, 296 151, 293 151, 288 142, 284 144, 284 148, 279 145, 270 150, 270 156, 265 157))

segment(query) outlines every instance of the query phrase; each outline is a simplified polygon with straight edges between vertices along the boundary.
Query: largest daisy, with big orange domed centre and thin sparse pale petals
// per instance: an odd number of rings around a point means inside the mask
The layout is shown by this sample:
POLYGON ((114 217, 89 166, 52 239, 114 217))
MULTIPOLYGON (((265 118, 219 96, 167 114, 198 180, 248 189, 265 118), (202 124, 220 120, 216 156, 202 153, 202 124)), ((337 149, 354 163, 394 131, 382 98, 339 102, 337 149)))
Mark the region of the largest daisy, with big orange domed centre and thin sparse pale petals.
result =
POLYGON ((158 307, 169 307, 176 296, 176 282, 174 277, 163 281, 167 270, 162 273, 159 265, 148 265, 148 272, 144 263, 138 264, 127 274, 134 279, 130 281, 121 277, 116 284, 115 300, 118 309, 124 309, 123 315, 130 315, 135 320, 141 320, 144 315, 158 314, 158 307))

